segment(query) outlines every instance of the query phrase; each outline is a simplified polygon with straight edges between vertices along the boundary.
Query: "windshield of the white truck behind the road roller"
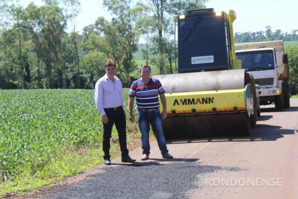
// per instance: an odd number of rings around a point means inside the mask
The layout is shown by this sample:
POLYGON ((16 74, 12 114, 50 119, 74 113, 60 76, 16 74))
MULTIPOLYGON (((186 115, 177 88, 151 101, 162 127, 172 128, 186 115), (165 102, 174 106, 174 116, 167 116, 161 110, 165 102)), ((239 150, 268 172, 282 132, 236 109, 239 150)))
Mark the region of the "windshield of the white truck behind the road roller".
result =
POLYGON ((272 50, 236 52, 236 56, 242 61, 242 69, 248 71, 274 69, 272 50))

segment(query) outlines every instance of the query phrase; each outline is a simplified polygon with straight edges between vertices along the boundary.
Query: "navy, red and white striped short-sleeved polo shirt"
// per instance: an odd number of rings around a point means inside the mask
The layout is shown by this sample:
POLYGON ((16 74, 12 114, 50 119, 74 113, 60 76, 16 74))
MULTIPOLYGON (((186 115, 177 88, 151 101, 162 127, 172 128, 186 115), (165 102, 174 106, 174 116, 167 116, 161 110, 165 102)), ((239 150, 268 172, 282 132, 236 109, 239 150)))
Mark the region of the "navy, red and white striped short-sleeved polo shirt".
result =
POLYGON ((136 97, 137 108, 142 110, 156 110, 160 107, 158 94, 165 93, 158 79, 150 78, 148 84, 144 84, 141 79, 131 84, 128 95, 136 97))

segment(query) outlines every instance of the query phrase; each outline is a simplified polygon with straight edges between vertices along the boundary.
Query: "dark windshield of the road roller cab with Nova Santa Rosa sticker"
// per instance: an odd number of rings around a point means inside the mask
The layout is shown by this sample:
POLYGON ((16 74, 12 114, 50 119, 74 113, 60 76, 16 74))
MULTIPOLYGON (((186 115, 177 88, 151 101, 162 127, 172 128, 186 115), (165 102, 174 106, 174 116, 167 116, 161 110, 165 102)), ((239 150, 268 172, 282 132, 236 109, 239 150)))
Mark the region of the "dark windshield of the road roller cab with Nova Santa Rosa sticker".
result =
POLYGON ((187 16, 178 20, 178 68, 227 68, 228 45, 224 15, 187 16))

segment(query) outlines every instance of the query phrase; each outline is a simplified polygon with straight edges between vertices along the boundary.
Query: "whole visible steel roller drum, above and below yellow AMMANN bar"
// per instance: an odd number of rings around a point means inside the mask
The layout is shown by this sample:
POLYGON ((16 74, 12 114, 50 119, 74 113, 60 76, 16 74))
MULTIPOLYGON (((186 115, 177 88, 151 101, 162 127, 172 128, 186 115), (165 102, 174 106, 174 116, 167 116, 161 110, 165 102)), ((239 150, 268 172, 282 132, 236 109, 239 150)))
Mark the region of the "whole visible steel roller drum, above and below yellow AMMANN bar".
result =
MULTIPOLYGON (((244 69, 156 75, 166 93, 243 89, 248 83, 244 69)), ((250 117, 246 114, 167 117, 163 120, 167 139, 248 135, 250 117)))

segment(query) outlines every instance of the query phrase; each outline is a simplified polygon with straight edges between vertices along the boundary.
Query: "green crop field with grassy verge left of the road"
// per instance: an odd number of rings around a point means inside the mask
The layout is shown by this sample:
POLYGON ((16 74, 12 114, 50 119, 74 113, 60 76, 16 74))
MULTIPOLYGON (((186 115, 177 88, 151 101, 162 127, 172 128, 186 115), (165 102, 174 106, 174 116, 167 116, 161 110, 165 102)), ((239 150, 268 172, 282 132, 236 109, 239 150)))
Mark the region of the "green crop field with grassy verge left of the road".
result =
MULTIPOLYGON (((124 96, 128 91, 123 89, 124 96)), ((2 90, 0 195, 42 187, 99 164, 102 130, 94 90, 2 90)), ((137 128, 128 131, 133 132, 128 142, 138 137, 137 128)), ((118 142, 112 140, 115 151, 118 142)))

